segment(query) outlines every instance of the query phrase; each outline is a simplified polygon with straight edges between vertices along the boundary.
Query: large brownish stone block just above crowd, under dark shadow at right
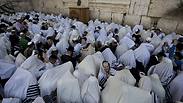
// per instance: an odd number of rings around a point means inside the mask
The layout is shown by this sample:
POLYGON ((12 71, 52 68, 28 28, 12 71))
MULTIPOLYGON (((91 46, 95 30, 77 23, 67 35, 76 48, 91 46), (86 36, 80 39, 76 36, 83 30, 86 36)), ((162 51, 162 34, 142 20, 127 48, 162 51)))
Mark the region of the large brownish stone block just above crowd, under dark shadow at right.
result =
POLYGON ((166 33, 171 33, 176 31, 177 25, 178 22, 176 20, 161 18, 158 21, 157 27, 161 28, 166 33))

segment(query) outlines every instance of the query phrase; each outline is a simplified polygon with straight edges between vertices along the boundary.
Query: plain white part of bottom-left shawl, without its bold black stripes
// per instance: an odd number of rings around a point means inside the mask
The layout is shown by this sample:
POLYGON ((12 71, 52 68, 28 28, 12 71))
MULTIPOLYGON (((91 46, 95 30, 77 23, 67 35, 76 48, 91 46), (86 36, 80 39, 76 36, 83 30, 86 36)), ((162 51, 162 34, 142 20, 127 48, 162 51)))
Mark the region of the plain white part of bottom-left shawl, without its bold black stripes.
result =
POLYGON ((29 71, 18 68, 4 87, 5 97, 25 99, 29 85, 37 84, 36 77, 29 71))

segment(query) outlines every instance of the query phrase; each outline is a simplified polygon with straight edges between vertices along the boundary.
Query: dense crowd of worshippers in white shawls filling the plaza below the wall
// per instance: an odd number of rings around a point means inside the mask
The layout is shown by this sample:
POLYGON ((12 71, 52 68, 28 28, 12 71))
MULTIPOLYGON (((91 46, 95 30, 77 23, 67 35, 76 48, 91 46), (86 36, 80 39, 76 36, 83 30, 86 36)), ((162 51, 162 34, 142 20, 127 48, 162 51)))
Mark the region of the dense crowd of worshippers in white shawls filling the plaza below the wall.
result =
POLYGON ((0 15, 2 103, 183 102, 183 37, 62 15, 0 15))

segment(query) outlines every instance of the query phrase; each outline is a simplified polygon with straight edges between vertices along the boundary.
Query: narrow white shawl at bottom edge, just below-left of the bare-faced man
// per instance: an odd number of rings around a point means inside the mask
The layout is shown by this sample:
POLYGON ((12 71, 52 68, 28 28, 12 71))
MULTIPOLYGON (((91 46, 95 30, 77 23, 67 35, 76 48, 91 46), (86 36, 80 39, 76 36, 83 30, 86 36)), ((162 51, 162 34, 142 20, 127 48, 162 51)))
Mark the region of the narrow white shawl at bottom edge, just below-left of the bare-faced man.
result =
POLYGON ((99 103, 100 102, 100 86, 98 80, 94 76, 90 76, 83 84, 81 90, 83 103, 99 103))

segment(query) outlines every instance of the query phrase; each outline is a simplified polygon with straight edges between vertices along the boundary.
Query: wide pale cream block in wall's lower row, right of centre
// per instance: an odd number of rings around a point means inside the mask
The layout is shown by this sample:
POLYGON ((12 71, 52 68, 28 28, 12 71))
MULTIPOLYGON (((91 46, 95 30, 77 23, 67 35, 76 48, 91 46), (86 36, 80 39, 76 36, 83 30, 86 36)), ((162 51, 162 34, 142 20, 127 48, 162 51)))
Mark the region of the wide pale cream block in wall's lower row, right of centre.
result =
POLYGON ((138 15, 126 15, 124 17, 124 24, 134 26, 140 24, 141 16, 138 15))

